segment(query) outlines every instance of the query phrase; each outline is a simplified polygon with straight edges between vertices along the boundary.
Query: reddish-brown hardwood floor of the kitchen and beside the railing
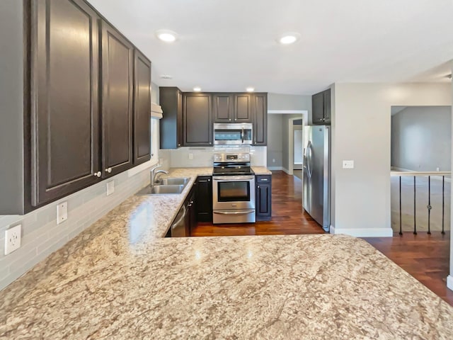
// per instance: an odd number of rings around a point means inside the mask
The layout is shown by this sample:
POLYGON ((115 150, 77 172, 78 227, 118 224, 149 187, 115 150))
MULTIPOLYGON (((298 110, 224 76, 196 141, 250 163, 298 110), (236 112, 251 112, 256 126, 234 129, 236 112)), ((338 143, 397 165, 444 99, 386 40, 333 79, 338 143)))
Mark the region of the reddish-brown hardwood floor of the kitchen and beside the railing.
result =
MULTIPOLYGON (((198 223, 191 236, 240 236, 268 234, 322 234, 323 229, 302 211, 302 181, 283 171, 273 171, 273 217, 256 224, 212 225, 198 223)), ((406 232, 402 237, 364 238, 443 300, 453 305, 453 291, 447 288, 449 274, 449 232, 406 232)))

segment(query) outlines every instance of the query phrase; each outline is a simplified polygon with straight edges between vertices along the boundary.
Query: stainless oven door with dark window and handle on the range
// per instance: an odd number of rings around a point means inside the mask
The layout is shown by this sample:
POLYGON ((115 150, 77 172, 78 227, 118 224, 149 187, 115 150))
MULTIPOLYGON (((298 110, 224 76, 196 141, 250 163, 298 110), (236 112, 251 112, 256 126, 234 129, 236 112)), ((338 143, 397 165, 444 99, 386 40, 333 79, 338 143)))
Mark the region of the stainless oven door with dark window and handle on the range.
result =
POLYGON ((255 176, 213 176, 212 209, 255 209, 255 176))

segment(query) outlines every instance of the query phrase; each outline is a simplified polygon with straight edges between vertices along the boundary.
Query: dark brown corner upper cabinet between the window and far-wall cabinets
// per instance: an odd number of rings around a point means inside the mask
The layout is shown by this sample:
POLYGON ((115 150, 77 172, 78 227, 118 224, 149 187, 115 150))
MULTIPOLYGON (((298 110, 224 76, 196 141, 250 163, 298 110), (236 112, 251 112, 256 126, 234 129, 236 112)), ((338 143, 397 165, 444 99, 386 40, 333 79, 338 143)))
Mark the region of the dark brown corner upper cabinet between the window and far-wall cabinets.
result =
POLYGON ((159 122, 161 149, 183 145, 183 93, 177 87, 159 87, 159 104, 164 117, 159 122))

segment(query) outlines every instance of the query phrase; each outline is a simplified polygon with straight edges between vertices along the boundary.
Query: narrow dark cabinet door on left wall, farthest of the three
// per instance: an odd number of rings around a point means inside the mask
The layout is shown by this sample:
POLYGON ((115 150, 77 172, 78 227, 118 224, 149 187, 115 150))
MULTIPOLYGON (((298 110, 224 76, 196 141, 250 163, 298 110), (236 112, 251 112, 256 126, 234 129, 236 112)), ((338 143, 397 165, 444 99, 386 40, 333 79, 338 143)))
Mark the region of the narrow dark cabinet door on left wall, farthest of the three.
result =
POLYGON ((151 158, 151 62, 134 51, 134 165, 151 158))

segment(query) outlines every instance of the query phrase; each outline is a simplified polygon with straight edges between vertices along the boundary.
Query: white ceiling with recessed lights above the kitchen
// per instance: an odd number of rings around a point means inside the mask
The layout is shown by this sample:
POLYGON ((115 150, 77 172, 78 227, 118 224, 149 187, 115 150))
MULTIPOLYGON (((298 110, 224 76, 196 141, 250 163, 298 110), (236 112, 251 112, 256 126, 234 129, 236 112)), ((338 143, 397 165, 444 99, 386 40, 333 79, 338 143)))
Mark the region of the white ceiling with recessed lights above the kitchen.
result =
POLYGON ((314 94, 334 82, 451 73, 453 0, 88 1, 149 57, 156 84, 183 91, 314 94), (161 28, 178 40, 157 40, 161 28), (288 31, 301 39, 277 44, 288 31))

